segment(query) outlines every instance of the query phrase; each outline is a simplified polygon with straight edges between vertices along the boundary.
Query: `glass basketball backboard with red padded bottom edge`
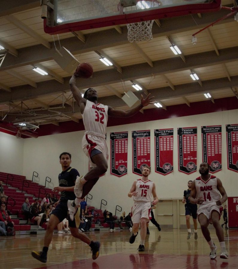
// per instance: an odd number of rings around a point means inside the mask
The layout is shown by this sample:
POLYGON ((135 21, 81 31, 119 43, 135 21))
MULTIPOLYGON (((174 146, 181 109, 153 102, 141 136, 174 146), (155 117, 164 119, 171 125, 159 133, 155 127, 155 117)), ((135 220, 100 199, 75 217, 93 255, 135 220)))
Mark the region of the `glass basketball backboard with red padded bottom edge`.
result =
POLYGON ((49 34, 122 25, 221 9, 221 0, 42 0, 49 34))

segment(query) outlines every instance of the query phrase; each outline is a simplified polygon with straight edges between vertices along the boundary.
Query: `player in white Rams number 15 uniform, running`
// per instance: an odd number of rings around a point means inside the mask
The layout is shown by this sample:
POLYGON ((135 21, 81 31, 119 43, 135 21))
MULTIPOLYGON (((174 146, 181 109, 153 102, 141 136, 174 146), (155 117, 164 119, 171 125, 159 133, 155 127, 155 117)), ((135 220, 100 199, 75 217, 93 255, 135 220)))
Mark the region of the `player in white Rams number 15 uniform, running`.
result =
POLYGON ((150 220, 151 204, 158 203, 155 184, 148 179, 151 170, 144 166, 142 178, 133 182, 128 197, 133 197, 134 205, 131 209, 131 220, 133 222, 132 235, 129 242, 133 244, 138 234, 140 226, 140 245, 138 250, 145 251, 146 223, 150 220))

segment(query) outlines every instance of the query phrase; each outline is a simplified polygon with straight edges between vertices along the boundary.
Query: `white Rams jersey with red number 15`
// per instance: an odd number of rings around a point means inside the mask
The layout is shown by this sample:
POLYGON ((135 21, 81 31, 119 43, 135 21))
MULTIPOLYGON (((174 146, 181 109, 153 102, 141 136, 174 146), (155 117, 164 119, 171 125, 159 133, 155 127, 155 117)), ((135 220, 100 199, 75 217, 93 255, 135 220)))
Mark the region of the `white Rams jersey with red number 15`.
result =
POLYGON ((154 200, 152 195, 153 181, 142 181, 137 179, 136 181, 136 190, 137 196, 133 196, 134 202, 152 202, 154 200))

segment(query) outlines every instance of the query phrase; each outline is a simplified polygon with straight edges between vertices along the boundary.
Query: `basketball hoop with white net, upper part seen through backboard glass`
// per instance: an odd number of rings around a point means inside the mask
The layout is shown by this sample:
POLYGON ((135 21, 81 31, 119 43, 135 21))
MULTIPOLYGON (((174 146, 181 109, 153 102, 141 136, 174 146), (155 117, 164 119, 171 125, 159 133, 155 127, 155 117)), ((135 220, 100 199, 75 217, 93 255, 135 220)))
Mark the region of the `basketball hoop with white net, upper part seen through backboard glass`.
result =
MULTIPOLYGON (((121 3, 126 1, 121 1, 121 3)), ((145 10, 152 7, 160 6, 160 3, 157 0, 149 0, 149 1, 131 1, 134 2, 134 6, 125 6, 124 11, 132 10, 145 10)), ((152 36, 152 26, 154 20, 151 21, 142 21, 142 22, 135 22, 135 23, 128 23, 128 41, 129 42, 140 42, 140 41, 150 41, 153 39, 152 36)))

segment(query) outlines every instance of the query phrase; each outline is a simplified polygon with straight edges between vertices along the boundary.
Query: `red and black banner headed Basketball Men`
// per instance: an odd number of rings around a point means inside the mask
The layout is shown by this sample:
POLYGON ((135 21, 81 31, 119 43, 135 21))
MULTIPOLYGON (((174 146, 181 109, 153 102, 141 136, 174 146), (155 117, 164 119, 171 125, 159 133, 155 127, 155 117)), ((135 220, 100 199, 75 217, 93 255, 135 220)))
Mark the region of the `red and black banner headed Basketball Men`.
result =
POLYGON ((110 133, 112 175, 121 177, 127 174, 128 132, 110 133))

